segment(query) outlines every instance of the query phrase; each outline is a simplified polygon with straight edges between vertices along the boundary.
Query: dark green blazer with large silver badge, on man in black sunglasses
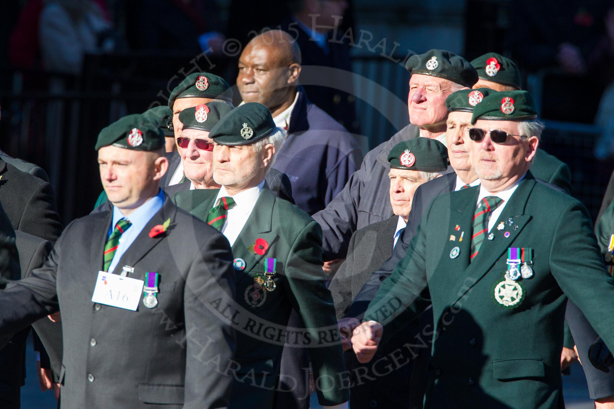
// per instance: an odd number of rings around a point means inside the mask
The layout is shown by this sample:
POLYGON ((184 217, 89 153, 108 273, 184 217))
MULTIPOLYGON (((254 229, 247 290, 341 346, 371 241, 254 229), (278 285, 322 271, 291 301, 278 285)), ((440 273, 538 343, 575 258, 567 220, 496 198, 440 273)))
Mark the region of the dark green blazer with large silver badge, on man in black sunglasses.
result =
POLYGON ((484 240, 470 263, 479 189, 433 200, 365 319, 384 324, 385 342, 432 302, 438 337, 425 407, 563 408, 565 295, 614 346, 614 280, 605 272, 588 212, 527 172, 491 230, 493 239, 484 240), (511 226, 497 229, 510 219, 511 226), (466 239, 451 241, 459 232, 466 239), (455 247, 459 254, 452 258, 455 247), (493 295, 507 270, 508 247, 534 250, 534 277, 519 281, 524 299, 509 309, 493 295))

